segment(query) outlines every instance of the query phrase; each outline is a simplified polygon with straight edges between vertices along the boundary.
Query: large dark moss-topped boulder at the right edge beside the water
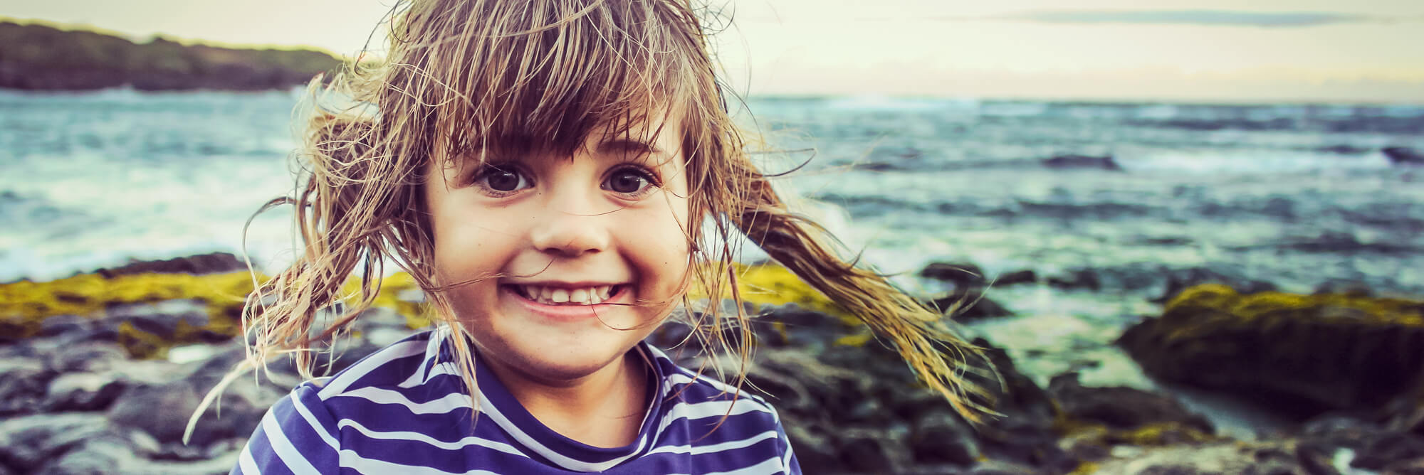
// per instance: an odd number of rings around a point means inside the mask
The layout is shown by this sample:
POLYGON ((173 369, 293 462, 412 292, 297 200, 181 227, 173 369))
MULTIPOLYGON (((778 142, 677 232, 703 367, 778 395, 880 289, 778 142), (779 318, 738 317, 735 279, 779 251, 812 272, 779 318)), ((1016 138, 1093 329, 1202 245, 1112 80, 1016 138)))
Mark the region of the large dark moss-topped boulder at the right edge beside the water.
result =
POLYGON ((1424 301, 1200 284, 1118 344, 1155 377, 1299 415, 1377 410, 1424 384, 1424 301))

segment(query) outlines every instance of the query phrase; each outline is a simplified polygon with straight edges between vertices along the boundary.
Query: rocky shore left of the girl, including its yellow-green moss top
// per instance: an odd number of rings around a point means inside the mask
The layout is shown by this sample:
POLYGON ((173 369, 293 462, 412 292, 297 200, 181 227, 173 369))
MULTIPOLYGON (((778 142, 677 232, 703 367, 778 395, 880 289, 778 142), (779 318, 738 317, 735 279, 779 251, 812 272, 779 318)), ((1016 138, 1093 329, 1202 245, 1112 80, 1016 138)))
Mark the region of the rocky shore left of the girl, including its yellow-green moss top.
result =
MULTIPOLYGON (((221 415, 209 408, 184 444, 204 395, 244 357, 228 327, 232 301, 218 294, 251 289, 241 284, 245 273, 187 272, 222 272, 232 262, 208 255, 0 286, 0 324, 37 329, 0 343, 0 475, 231 471, 261 417, 300 381, 292 363, 273 361, 259 385, 232 384, 221 415), (185 273, 141 273, 148 269, 185 273)), ((362 337, 343 340, 340 357, 316 374, 380 347, 367 338, 389 344, 413 331, 383 307, 367 310, 356 330, 362 337)))

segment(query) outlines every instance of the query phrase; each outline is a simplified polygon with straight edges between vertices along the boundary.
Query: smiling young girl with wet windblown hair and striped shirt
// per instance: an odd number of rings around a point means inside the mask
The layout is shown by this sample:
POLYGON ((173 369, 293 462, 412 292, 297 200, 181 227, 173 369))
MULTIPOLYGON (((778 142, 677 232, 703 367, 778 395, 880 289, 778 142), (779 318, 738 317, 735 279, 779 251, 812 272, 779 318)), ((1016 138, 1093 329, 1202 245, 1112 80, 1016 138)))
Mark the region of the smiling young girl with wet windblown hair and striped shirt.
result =
POLYGON ((234 472, 797 474, 776 411, 740 377, 719 383, 642 341, 685 316, 745 374, 733 229, 974 410, 957 374, 973 348, 837 259, 753 166, 696 14, 682 0, 399 6, 384 58, 332 85, 363 107, 310 122, 305 255, 249 300, 249 363, 293 353, 309 371, 313 343, 360 316, 387 262, 441 323, 332 377, 303 374, 234 472), (319 324, 357 265, 360 301, 319 324), (699 306, 689 287, 739 310, 699 306))

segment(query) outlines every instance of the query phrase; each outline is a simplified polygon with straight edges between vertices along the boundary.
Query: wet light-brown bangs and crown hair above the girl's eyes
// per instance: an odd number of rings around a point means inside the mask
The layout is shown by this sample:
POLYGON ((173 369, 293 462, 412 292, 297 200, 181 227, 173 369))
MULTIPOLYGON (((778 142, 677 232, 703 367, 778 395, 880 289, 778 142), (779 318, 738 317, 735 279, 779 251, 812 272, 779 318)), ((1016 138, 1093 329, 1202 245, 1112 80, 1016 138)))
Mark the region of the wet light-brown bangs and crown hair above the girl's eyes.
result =
MULTIPOLYGON (((645 139, 693 102, 701 31, 656 1, 470 1, 481 21, 424 21, 434 139, 446 159, 554 152, 590 135, 645 139)), ((703 73, 705 74, 705 73, 703 73)))

